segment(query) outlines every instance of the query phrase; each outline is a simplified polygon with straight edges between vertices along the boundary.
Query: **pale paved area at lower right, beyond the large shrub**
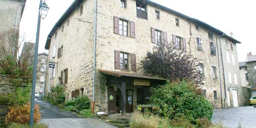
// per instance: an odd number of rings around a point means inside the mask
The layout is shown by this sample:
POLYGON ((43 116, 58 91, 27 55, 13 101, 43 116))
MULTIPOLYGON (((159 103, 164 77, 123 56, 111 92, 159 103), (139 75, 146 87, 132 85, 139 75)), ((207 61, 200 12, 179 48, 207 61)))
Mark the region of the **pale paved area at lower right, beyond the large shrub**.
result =
POLYGON ((213 111, 212 122, 222 121, 228 128, 237 128, 242 119, 242 128, 256 128, 256 108, 245 106, 213 111))

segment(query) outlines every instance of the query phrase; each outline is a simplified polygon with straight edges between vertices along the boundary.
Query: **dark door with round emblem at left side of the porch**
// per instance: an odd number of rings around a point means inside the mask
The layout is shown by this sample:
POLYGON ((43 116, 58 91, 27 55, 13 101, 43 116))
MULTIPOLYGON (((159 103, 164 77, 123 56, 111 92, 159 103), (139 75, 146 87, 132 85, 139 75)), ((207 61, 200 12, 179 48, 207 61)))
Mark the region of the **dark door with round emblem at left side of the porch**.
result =
POLYGON ((116 93, 112 86, 108 87, 108 113, 116 113, 116 93))

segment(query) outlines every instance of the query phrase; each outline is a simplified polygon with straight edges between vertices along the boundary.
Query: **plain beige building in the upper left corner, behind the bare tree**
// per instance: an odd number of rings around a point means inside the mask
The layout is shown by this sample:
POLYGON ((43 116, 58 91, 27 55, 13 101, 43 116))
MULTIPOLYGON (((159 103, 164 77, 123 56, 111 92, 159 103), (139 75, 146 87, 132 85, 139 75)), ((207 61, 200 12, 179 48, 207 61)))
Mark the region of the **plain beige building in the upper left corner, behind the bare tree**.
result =
POLYGON ((0 0, 0 31, 19 28, 26 0, 0 0))

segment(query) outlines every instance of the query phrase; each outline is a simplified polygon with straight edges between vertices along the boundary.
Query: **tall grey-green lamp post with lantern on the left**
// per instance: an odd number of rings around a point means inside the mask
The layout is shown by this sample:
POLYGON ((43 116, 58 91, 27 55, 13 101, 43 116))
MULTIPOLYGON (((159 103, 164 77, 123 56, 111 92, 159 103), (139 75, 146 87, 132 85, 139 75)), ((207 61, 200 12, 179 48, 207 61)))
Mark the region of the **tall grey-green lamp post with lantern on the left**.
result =
POLYGON ((31 91, 31 106, 30 106, 30 127, 31 128, 33 127, 33 124, 34 124, 35 81, 36 81, 36 72, 37 72, 40 23, 41 23, 41 17, 44 19, 47 16, 48 10, 49 8, 47 4, 45 2, 43 3, 43 1, 40 0, 39 12, 38 12, 38 26, 37 26, 36 40, 35 40, 35 56, 34 56, 33 80, 32 80, 32 91, 31 91))

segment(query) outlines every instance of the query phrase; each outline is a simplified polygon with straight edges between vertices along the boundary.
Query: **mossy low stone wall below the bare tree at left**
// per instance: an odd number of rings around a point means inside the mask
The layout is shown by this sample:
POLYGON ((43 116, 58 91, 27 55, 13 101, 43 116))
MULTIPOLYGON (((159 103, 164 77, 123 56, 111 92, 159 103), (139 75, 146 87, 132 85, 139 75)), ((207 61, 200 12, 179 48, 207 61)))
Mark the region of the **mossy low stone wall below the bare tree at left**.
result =
POLYGON ((0 75, 0 95, 15 92, 15 87, 25 87, 31 79, 0 75))

